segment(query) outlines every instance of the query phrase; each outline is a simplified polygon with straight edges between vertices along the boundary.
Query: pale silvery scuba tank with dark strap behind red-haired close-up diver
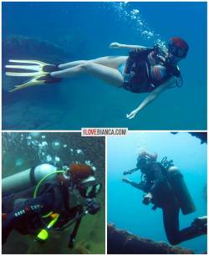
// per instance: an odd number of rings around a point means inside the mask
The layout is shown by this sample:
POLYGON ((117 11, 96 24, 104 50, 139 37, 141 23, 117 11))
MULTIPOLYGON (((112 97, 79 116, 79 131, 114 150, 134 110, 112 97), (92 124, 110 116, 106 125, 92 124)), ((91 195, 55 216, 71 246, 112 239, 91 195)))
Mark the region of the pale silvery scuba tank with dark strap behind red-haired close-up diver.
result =
MULTIPOLYGON (((15 192, 21 192, 28 188, 34 187, 41 181, 43 177, 51 172, 55 172, 57 168, 47 163, 41 164, 30 169, 18 172, 9 177, 3 178, 2 192, 3 197, 15 192)), ((53 180, 55 174, 49 177, 49 180, 53 180)))

